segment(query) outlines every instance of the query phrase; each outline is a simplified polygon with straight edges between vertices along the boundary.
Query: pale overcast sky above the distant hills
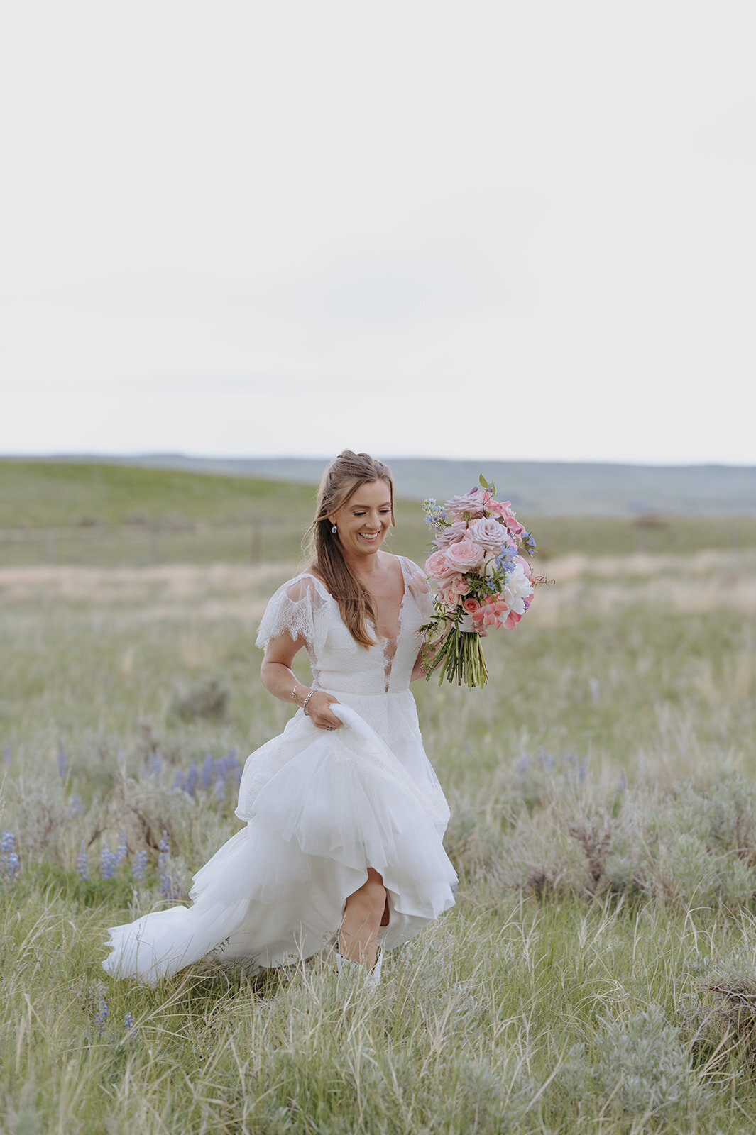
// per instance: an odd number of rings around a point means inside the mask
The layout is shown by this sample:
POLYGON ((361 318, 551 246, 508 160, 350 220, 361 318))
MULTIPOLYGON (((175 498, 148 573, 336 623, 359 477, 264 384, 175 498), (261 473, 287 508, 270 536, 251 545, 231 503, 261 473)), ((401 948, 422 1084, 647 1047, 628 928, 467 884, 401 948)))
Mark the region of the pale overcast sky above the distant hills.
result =
POLYGON ((756 464, 754 0, 23 0, 0 453, 756 464))

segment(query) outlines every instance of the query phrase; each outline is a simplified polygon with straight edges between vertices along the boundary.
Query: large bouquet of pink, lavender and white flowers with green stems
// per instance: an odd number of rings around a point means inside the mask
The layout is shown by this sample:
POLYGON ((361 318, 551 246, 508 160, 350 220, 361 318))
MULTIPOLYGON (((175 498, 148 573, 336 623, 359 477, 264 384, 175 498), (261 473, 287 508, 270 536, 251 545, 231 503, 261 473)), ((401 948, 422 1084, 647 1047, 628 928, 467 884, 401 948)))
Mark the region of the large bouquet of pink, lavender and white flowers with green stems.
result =
POLYGON ((422 510, 435 530, 426 572, 436 587, 435 616, 426 632, 422 663, 426 679, 439 672, 472 689, 488 680, 480 634, 513 628, 534 596, 530 564, 521 555, 536 552, 532 535, 516 520, 510 501, 495 501, 496 488, 480 477, 463 496, 422 510))

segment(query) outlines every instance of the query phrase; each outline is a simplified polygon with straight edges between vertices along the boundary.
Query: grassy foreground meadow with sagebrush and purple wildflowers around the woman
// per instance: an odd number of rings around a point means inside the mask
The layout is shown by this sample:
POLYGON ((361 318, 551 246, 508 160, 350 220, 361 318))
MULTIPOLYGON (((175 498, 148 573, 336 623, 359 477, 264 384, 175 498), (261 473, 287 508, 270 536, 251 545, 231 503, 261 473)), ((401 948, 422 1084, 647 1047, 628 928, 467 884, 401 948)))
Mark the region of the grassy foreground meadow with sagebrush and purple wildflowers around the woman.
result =
POLYGON ((375 994, 100 968, 240 826, 291 561, 0 568, 0 1130, 751 1132, 756 552, 711 531, 555 552, 484 690, 415 683, 460 889, 375 994))

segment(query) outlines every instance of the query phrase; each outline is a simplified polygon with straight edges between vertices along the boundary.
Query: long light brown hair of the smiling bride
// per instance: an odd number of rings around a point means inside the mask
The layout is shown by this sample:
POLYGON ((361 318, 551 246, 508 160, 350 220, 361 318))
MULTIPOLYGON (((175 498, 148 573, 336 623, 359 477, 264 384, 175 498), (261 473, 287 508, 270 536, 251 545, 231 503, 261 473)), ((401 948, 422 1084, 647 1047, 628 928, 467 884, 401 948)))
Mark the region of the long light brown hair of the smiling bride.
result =
POLYGON ((375 646, 375 639, 370 638, 367 630, 368 619, 371 619, 373 624, 376 621, 372 598, 367 587, 350 571, 338 535, 334 535, 330 530, 328 515, 338 512, 362 485, 372 485, 375 481, 386 481, 388 485, 393 524, 394 481, 390 469, 367 453, 344 449, 324 473, 318 490, 318 510, 308 531, 308 552, 312 557, 311 570, 324 581, 338 603, 342 619, 354 641, 366 647, 375 646))

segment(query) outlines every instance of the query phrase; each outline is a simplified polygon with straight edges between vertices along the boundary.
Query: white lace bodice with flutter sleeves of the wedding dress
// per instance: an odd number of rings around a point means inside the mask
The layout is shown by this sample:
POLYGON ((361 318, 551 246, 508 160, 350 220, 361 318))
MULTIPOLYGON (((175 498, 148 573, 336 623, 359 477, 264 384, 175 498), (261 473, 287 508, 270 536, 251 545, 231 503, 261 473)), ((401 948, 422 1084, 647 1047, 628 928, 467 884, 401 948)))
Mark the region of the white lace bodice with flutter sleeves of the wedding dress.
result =
POLYGON ((302 637, 316 687, 329 692, 395 693, 408 690, 418 650, 419 628, 432 615, 432 594, 425 572, 405 556, 397 556, 404 595, 395 639, 381 638, 369 624, 373 646, 354 641, 338 603, 316 575, 303 572, 287 580, 271 597, 260 623, 257 645, 287 631, 302 637))

